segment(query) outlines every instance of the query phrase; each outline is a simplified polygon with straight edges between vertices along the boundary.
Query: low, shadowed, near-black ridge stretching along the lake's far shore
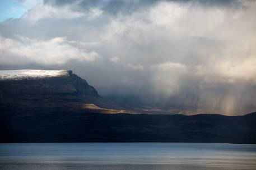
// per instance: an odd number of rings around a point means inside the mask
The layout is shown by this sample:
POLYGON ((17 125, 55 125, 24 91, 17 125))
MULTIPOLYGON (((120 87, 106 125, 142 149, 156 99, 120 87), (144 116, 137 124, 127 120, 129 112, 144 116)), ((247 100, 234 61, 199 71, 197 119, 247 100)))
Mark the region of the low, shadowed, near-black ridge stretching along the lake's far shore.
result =
POLYGON ((256 114, 150 115, 76 111, 0 113, 0 142, 209 142, 256 144, 256 114))

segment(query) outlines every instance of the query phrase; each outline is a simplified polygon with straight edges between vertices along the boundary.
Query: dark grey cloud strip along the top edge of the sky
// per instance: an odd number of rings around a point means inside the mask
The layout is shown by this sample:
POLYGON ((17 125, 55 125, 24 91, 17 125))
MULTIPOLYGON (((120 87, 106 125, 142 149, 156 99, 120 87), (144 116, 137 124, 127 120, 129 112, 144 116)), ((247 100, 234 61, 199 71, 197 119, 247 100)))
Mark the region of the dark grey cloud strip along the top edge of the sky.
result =
MULTIPOLYGON (((246 1, 246 0, 245 0, 246 1)), ((132 13, 152 7, 159 2, 191 3, 204 6, 239 6, 239 0, 44 0, 45 4, 53 6, 72 5, 75 11, 89 11, 91 8, 99 8, 105 13, 132 13)))

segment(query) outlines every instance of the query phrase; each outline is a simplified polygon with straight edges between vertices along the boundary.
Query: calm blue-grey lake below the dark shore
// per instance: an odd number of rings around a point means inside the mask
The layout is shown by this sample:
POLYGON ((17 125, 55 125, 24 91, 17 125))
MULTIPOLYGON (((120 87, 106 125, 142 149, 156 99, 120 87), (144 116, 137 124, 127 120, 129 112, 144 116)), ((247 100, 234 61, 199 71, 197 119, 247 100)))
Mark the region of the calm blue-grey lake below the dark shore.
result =
POLYGON ((256 145, 217 143, 2 143, 1 170, 256 169, 256 145))

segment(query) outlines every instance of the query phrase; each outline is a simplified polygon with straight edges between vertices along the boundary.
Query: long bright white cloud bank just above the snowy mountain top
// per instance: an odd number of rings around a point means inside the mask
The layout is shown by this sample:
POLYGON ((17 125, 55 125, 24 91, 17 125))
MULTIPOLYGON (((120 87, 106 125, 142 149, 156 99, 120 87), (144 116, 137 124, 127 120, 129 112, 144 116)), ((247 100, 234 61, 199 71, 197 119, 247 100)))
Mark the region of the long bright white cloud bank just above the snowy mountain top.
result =
POLYGON ((60 65, 70 60, 95 61, 99 56, 95 51, 85 52, 72 46, 64 37, 50 40, 0 37, 0 42, 1 64, 17 65, 34 62, 42 65, 60 65))

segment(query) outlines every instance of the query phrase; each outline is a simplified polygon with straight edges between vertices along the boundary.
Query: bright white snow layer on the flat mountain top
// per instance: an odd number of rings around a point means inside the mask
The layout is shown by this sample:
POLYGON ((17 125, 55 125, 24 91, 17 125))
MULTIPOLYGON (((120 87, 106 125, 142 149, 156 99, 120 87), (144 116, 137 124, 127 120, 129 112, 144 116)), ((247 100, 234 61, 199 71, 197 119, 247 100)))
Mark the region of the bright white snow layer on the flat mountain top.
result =
POLYGON ((69 70, 0 70, 0 80, 43 79, 68 76, 69 70))

